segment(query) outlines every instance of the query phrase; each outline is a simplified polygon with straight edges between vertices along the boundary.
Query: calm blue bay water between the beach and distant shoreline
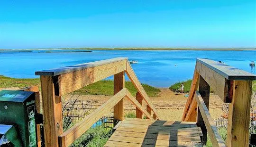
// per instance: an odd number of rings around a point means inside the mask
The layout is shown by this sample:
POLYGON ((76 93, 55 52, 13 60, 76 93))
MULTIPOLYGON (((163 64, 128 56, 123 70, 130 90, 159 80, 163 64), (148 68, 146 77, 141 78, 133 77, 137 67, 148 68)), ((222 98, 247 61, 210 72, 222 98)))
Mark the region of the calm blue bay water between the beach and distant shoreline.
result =
MULTIPOLYGON (((210 58, 225 62, 247 72, 252 71, 249 63, 256 61, 256 50, 92 50, 92 52, 46 53, 0 52, 0 75, 14 78, 36 78, 35 71, 76 65, 113 57, 128 57, 137 60, 132 67, 140 82, 156 87, 168 87, 174 82, 191 79, 196 58, 210 58), (176 66, 175 66, 176 65, 176 66)), ((113 77, 110 77, 111 79, 113 77)), ((126 78, 128 79, 128 78, 126 78)))

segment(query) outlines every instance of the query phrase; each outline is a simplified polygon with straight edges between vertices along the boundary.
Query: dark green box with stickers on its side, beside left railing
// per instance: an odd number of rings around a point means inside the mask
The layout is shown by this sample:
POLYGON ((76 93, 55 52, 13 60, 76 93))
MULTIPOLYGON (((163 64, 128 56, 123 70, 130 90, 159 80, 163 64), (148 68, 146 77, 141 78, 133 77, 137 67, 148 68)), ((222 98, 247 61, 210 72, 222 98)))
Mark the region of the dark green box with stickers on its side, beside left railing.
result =
POLYGON ((24 147, 37 147, 35 93, 0 91, 0 124, 15 126, 24 147))

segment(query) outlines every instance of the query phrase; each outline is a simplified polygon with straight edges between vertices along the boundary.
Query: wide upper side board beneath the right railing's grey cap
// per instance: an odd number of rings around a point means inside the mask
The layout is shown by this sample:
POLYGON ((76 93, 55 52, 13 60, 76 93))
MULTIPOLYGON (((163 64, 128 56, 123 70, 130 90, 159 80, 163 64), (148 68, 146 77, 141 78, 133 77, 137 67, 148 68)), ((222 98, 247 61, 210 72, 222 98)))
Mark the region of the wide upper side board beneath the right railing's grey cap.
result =
POLYGON ((230 81, 200 62, 197 62, 196 66, 201 77, 210 85, 211 89, 219 95, 219 98, 222 99, 224 103, 230 103, 230 97, 232 97, 232 93, 229 93, 230 81))

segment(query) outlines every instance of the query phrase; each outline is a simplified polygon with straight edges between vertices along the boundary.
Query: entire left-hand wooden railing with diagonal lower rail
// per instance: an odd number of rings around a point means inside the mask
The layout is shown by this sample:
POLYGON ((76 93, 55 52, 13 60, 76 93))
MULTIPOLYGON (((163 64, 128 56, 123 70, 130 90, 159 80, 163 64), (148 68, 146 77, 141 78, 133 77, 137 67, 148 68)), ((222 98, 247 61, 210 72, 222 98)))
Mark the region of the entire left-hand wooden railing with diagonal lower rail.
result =
POLYGON ((128 98, 136 106, 137 118, 142 118, 142 114, 145 114, 147 119, 160 119, 131 68, 128 58, 119 57, 38 71, 36 75, 40 75, 41 78, 46 147, 68 147, 112 107, 114 108, 114 121, 124 120, 124 98, 128 98), (125 88, 125 73, 138 91, 136 98, 125 88), (61 97, 111 75, 114 75, 114 96, 81 122, 64 132, 61 97), (147 104, 146 110, 142 106, 142 100, 147 104))

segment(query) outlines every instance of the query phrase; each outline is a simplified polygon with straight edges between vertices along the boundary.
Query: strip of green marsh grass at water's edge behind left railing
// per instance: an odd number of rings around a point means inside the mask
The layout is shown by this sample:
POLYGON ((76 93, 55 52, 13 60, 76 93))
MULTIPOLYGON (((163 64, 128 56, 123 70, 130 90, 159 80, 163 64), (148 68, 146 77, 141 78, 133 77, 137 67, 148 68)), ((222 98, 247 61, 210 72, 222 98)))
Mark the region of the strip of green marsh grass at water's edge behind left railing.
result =
MULTIPOLYGON (((6 87, 25 87, 25 86, 33 86, 37 85, 40 88, 40 78, 35 79, 16 79, 16 78, 9 78, 0 75, 0 88, 6 87)), ((142 84, 143 88, 145 89, 147 95, 149 97, 156 97, 160 92, 159 89, 149 86, 147 84, 142 84)), ((125 87, 130 91, 130 93, 135 96, 136 95, 136 88, 133 86, 132 82, 125 82, 125 87)), ((86 87, 83 87, 80 90, 76 90, 75 93, 81 95, 113 95, 114 94, 114 82, 113 80, 101 80, 90 84, 86 87)))

